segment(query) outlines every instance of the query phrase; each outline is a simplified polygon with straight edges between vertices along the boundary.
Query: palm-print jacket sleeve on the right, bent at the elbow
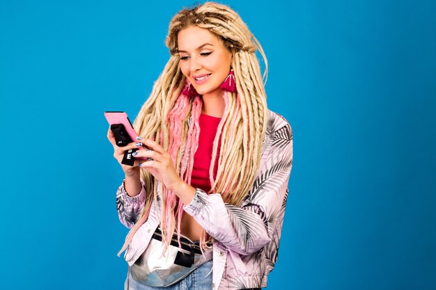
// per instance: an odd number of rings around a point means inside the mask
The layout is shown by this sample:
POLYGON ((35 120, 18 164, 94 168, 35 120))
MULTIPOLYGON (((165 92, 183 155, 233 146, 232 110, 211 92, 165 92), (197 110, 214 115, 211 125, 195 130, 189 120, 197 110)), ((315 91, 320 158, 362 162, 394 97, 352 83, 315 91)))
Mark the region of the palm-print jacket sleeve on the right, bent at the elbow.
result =
POLYGON ((276 223, 283 223, 293 162, 290 125, 286 122, 270 138, 254 186, 240 207, 224 203, 219 193, 208 195, 200 188, 184 206, 208 234, 240 255, 251 255, 277 239, 273 237, 276 223))

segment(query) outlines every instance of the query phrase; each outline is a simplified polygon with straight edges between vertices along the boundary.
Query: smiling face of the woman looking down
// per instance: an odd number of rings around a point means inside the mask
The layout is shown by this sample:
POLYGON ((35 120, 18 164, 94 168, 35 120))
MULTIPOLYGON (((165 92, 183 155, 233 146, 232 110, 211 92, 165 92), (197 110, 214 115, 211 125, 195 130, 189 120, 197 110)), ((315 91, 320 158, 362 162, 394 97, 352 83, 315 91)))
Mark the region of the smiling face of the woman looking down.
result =
POLYGON ((230 72, 232 54, 217 35, 198 26, 179 31, 180 70, 200 95, 219 88, 230 72))

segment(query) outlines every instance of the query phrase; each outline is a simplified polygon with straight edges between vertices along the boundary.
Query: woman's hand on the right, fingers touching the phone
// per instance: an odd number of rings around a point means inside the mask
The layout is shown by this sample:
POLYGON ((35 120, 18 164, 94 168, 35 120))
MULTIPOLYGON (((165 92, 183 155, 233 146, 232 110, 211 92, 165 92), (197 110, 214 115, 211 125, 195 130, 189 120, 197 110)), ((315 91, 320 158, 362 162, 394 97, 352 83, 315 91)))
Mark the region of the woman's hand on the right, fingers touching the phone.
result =
POLYGON ((174 168, 171 155, 153 140, 143 139, 141 142, 152 150, 138 150, 134 157, 148 157, 153 160, 143 161, 139 164, 139 167, 145 168, 155 179, 162 182, 166 188, 175 191, 183 183, 183 180, 176 172, 176 168, 174 168))

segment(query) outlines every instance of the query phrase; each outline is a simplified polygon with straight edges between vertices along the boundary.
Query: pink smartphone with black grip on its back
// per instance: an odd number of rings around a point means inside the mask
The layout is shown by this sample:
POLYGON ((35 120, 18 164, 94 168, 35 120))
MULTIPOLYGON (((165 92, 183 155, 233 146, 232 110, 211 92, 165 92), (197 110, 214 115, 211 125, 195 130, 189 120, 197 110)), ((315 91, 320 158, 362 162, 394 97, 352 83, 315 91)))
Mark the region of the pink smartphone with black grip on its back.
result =
MULTIPOLYGON (((130 122, 127 113, 123 111, 106 111, 104 112, 104 117, 106 118, 107 122, 109 122, 109 124, 111 125, 111 130, 112 131, 117 130, 118 132, 118 138, 116 138, 118 146, 123 147, 128 143, 137 140, 138 134, 136 131, 134 131, 132 122, 130 122), (125 136, 126 132, 127 132, 127 136, 125 136)), ((143 147, 138 148, 138 150, 144 150, 144 149, 150 150, 150 148, 148 148, 145 145, 143 147)), ((148 160, 147 157, 137 157, 137 159, 148 160)))

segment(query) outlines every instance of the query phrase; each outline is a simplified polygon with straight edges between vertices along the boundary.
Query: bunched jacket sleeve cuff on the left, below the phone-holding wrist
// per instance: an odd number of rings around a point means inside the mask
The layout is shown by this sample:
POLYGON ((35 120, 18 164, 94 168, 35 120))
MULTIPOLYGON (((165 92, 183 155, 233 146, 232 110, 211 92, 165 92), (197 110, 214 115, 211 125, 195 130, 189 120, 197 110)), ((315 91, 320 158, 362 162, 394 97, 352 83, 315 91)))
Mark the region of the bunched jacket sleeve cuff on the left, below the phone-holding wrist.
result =
POLYGON ((116 210, 118 211, 120 222, 131 229, 137 222, 145 204, 146 190, 141 179, 141 192, 139 192, 139 195, 130 197, 125 191, 124 182, 125 180, 123 180, 118 191, 116 191, 116 210))

